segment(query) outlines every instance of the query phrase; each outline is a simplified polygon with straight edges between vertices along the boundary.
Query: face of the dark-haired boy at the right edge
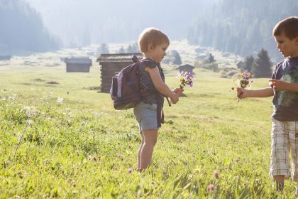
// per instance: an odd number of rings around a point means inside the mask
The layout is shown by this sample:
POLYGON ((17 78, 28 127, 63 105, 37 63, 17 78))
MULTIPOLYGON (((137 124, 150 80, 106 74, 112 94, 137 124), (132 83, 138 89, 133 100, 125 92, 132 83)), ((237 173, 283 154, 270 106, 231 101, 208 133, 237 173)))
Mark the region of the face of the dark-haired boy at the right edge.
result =
POLYGON ((277 49, 284 57, 298 57, 298 36, 296 38, 289 39, 284 33, 282 33, 280 36, 275 36, 275 41, 277 43, 277 49))

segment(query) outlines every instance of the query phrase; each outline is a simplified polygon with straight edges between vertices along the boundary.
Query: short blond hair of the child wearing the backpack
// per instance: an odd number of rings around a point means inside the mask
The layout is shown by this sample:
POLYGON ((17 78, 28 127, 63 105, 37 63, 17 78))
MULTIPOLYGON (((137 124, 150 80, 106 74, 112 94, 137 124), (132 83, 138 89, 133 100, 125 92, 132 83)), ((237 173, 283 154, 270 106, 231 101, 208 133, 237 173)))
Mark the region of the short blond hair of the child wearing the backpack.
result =
POLYGON ((148 51, 149 44, 153 44, 153 47, 156 47, 162 43, 169 45, 170 40, 165 33, 162 33, 157 28, 145 28, 138 38, 138 48, 140 48, 140 52, 142 53, 148 51))

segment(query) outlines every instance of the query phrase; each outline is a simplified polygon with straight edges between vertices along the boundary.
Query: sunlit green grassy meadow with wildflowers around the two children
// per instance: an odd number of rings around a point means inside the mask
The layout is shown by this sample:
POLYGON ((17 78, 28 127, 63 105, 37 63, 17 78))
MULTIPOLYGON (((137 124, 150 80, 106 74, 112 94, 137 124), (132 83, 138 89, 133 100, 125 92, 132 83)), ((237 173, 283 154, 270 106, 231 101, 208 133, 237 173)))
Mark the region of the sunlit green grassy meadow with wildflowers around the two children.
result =
MULTIPOLYGON (((192 63, 194 47, 183 49, 192 63)), ((59 57, 79 52, 0 61, 0 198, 294 198, 292 181, 275 193, 268 176, 271 97, 237 102, 232 79, 195 68, 194 87, 165 104, 153 162, 138 173, 132 109, 98 92, 96 58, 89 73, 65 72, 59 57)), ((177 70, 162 67, 177 87, 177 70)))

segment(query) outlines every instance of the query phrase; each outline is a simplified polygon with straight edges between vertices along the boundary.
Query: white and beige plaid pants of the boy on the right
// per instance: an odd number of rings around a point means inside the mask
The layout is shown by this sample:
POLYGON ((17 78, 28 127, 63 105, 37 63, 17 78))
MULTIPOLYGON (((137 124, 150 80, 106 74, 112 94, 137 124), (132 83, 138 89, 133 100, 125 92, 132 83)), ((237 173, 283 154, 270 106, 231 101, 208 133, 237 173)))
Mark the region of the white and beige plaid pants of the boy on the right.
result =
POLYGON ((272 118, 269 175, 292 177, 298 182, 298 122, 280 122, 272 118), (289 153, 291 153, 291 167, 289 153))

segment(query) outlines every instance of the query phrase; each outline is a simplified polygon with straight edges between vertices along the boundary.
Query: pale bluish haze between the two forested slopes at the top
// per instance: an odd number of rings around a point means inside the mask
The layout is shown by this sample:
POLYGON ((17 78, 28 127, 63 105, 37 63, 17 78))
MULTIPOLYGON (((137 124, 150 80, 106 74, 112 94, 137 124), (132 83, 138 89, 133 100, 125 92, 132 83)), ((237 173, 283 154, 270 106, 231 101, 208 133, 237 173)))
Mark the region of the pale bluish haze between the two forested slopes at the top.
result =
POLYGON ((48 30, 66 45, 136 41, 146 27, 171 39, 186 38, 194 18, 216 0, 24 0, 43 17, 48 30))

